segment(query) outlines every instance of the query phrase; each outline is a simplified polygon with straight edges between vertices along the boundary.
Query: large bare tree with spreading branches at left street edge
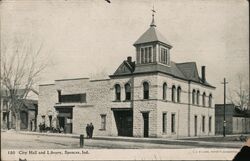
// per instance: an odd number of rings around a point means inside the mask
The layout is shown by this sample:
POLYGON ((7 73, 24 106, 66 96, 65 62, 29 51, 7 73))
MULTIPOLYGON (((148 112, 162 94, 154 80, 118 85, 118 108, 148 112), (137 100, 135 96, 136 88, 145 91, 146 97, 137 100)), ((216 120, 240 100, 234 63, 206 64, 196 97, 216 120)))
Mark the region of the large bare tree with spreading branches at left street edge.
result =
POLYGON ((47 66, 41 56, 42 46, 34 47, 34 44, 25 41, 16 41, 12 46, 2 45, 1 86, 2 91, 6 92, 7 112, 12 113, 16 130, 20 130, 23 103, 47 66))

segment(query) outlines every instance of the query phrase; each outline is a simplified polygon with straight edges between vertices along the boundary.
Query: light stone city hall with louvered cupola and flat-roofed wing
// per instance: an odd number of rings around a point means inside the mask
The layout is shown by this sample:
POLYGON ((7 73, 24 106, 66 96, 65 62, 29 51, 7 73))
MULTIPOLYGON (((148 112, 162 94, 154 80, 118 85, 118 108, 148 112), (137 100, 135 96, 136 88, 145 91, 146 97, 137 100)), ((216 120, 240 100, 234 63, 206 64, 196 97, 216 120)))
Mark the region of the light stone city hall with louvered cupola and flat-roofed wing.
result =
POLYGON ((94 136, 187 137, 214 135, 215 87, 195 62, 171 61, 171 44, 154 17, 109 79, 55 80, 39 86, 38 125, 94 136))

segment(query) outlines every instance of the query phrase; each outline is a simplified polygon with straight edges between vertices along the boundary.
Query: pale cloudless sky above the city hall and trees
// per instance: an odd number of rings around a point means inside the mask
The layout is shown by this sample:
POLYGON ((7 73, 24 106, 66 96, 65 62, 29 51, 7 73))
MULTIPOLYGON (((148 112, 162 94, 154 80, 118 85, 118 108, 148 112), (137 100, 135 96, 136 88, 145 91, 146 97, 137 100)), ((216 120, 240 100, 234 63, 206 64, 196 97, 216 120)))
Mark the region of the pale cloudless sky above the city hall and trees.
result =
MULTIPOLYGON (((171 43, 171 60, 196 62, 223 103, 237 75, 249 80, 249 3, 246 0, 3 0, 1 40, 43 44, 49 66, 39 84, 65 78, 111 75, 149 28, 154 5, 157 29, 171 43)), ((36 46, 36 45, 34 45, 36 46)))

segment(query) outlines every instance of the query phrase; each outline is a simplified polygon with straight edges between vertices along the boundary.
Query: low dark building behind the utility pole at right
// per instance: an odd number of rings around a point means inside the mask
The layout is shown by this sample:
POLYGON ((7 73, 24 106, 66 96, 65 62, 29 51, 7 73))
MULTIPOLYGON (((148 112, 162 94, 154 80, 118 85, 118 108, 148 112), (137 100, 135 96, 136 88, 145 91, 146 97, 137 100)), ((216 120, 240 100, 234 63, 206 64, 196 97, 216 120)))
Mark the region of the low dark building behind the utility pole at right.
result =
MULTIPOLYGON (((234 104, 225 106, 226 134, 250 133, 250 111, 240 110, 234 104)), ((223 134, 224 104, 215 105, 215 134, 223 134)))

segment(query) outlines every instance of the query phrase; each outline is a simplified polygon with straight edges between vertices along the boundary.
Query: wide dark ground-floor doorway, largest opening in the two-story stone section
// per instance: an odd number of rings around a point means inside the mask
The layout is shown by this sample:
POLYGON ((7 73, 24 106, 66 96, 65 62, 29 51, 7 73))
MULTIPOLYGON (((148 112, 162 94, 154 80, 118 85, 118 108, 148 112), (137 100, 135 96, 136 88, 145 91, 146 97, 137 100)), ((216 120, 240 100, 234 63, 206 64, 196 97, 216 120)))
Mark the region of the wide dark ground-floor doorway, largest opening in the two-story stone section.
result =
POLYGON ((133 112, 127 111, 114 111, 116 127, 118 136, 132 136, 133 135, 133 112))

